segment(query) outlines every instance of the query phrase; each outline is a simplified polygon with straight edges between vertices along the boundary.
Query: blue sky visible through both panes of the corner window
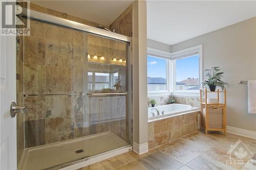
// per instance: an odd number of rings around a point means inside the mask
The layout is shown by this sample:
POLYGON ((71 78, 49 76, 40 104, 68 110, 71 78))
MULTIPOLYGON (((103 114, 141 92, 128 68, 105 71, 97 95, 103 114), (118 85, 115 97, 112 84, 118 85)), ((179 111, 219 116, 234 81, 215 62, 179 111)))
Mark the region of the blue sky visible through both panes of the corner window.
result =
MULTIPOLYGON (((147 56, 147 77, 166 78, 166 60, 147 56)), ((199 78, 199 56, 176 60, 176 80, 199 78)))

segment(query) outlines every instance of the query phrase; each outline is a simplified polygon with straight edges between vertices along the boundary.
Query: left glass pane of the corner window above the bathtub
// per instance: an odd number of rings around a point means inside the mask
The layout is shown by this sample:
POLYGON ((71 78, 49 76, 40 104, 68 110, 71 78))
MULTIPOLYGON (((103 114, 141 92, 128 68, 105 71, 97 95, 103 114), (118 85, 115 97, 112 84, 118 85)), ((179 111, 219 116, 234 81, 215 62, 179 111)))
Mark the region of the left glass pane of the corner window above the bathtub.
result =
POLYGON ((147 56, 147 90, 166 90, 167 60, 147 56))

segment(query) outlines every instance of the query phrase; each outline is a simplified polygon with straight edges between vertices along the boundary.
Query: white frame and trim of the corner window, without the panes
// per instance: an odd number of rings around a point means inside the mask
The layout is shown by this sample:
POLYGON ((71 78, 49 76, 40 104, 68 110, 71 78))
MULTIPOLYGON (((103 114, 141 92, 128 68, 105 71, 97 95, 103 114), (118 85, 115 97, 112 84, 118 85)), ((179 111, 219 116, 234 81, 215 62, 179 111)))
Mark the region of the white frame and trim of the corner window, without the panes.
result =
POLYGON ((182 58, 186 54, 198 52, 199 54, 199 88, 202 88, 203 80, 203 45, 192 46, 173 53, 164 52, 151 47, 147 47, 147 56, 166 59, 166 90, 147 90, 148 97, 154 96, 199 96, 199 90, 176 90, 176 64, 175 59, 182 58))

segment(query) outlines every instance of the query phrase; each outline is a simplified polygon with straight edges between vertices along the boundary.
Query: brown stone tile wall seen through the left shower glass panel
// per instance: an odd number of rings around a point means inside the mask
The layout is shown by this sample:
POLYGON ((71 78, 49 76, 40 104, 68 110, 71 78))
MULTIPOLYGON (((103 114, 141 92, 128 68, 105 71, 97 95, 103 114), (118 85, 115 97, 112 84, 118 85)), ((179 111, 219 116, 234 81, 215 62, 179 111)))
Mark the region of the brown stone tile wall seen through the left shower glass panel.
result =
MULTIPOLYGON (((24 40, 24 93, 77 93, 82 87, 86 35, 31 20, 24 40)), ((26 96, 25 148, 80 137, 82 96, 26 96)))

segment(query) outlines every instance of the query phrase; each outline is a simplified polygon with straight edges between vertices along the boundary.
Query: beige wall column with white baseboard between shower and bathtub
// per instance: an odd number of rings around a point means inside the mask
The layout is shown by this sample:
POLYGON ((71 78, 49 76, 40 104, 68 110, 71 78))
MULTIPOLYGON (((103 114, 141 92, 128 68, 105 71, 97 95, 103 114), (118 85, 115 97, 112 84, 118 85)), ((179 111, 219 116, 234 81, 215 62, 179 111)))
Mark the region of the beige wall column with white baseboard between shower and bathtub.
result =
POLYGON ((133 150, 148 152, 147 144, 146 1, 133 3, 133 150))

